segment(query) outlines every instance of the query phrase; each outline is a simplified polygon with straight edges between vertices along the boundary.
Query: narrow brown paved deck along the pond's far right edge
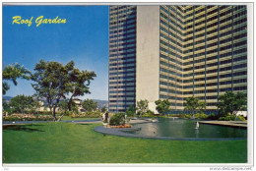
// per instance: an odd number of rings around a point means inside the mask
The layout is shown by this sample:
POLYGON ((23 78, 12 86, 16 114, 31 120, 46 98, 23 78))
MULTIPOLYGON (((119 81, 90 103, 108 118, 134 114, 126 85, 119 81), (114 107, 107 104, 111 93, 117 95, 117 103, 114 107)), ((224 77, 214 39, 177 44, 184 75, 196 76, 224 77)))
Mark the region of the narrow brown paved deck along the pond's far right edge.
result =
POLYGON ((198 121, 200 124, 247 128, 247 121, 198 121))

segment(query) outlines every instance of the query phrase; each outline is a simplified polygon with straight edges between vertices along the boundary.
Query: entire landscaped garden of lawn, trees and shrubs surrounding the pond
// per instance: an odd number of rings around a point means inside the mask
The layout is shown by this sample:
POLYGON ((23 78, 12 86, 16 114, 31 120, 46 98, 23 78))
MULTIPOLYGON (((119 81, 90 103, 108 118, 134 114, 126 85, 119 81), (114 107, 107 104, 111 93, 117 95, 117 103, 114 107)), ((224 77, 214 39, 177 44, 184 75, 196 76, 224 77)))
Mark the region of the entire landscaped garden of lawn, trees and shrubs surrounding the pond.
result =
MULTIPOLYGON (((79 71, 74 65, 73 61, 63 66, 58 62, 41 60, 35 65, 33 74, 20 65, 4 69, 5 81, 11 80, 17 85, 18 78, 32 80, 36 93, 33 96, 17 95, 9 103, 3 103, 3 120, 9 121, 3 127, 3 163, 247 162, 246 140, 204 142, 135 139, 96 133, 94 128, 102 125, 101 123, 59 122, 101 120, 102 113, 106 114, 103 123, 109 129, 132 127, 129 120, 137 117, 150 117, 153 118, 152 121, 156 117, 243 121, 245 118, 232 112, 246 111, 245 94, 225 92, 220 95, 218 115, 204 114, 206 102, 194 96, 186 98, 183 114, 171 114, 170 102, 160 99, 155 101, 159 113, 156 115, 149 110, 149 101, 145 99, 137 101, 136 106, 130 106, 125 113, 108 115, 106 108, 101 111, 96 109, 96 102, 92 99, 76 103, 79 99, 75 97, 90 93, 89 85, 96 74, 79 71), (39 104, 41 100, 46 104, 45 111, 38 110, 43 107, 39 104), (15 121, 49 122, 22 122, 19 123, 22 125, 15 125, 15 121), (12 125, 8 125, 10 123, 12 125)), ((10 88, 6 82, 3 87, 3 93, 10 88)), ((175 129, 180 131, 177 127, 175 129)), ((194 131, 194 128, 191 130, 194 131)))

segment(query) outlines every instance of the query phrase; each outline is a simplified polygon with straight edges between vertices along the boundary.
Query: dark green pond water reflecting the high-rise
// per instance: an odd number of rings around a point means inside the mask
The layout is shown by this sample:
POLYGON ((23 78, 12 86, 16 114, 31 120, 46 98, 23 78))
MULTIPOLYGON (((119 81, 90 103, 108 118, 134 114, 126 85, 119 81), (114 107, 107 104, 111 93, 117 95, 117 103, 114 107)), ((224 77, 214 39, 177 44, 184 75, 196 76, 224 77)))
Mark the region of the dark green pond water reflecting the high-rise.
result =
POLYGON ((138 136, 169 138, 247 138, 247 129, 199 124, 197 120, 159 118, 159 122, 136 124, 132 131, 138 136))

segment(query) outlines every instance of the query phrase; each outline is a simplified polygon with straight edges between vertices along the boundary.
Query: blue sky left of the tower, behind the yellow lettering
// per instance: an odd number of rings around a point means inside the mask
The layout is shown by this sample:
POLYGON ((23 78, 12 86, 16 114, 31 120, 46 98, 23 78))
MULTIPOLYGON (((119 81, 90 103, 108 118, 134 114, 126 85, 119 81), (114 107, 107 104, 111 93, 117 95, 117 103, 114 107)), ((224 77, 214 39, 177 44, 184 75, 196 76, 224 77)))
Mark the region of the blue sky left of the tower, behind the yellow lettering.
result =
MULTIPOLYGON (((19 21, 21 23, 21 21, 19 21)), ((95 71, 91 94, 81 97, 108 98, 108 6, 3 6, 3 68, 19 63, 33 72, 40 59, 63 65, 71 60, 80 70, 95 71), (13 24, 13 17, 32 25, 13 24), (41 24, 35 20, 66 19, 65 24, 41 24)), ((32 81, 18 80, 5 95, 32 95, 32 81)))

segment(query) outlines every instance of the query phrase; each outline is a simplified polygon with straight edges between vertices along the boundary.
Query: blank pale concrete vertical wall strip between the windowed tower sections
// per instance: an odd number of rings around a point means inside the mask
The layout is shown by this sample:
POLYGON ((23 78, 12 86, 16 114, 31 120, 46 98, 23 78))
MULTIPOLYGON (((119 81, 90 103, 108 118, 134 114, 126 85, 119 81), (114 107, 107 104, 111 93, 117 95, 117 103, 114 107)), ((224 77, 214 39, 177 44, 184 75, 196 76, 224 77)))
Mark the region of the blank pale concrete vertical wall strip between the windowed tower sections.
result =
POLYGON ((160 98, 160 6, 137 6, 136 101, 160 98))

